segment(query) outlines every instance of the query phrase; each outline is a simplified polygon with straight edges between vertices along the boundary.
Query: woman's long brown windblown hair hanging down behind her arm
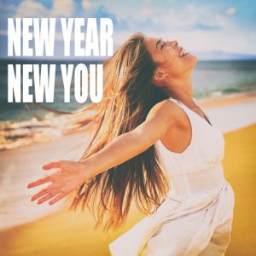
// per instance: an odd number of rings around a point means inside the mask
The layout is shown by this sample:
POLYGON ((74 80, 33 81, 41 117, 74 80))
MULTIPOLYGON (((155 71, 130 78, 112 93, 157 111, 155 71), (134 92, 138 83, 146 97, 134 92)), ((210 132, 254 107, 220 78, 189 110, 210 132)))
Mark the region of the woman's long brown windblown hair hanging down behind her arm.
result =
MULTIPOLYGON (((103 67, 102 102, 91 102, 84 108, 84 113, 94 110, 92 118, 84 119, 84 124, 94 124, 94 135, 79 161, 95 154, 115 137, 134 130, 145 121, 156 103, 168 97, 152 84, 156 66, 144 46, 143 33, 128 38, 113 56, 103 62, 103 67)), ((152 145, 143 153, 84 182, 75 191, 68 210, 76 211, 79 205, 84 210, 88 206, 94 218, 97 212, 95 228, 107 217, 104 230, 109 230, 123 224, 132 199, 139 210, 153 213, 169 189, 159 155, 152 145)))

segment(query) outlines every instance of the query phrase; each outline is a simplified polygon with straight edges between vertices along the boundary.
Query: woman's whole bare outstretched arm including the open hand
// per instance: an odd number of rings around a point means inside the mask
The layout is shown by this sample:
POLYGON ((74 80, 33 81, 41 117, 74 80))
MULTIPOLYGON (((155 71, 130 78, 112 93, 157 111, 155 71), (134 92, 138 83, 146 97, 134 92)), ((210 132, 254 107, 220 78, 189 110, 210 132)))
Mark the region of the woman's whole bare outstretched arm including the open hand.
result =
POLYGON ((105 148, 90 155, 82 162, 58 160, 42 166, 44 170, 59 168, 59 172, 39 178, 27 185, 27 188, 30 189, 43 183, 52 183, 38 194, 33 195, 31 201, 43 196, 38 201, 40 204, 56 195, 53 200, 49 201, 49 204, 54 204, 73 192, 90 177, 106 172, 113 166, 118 166, 142 153, 163 137, 167 131, 170 131, 171 127, 176 126, 177 112, 175 108, 176 105, 171 101, 157 103, 150 110, 143 124, 138 125, 133 131, 114 138, 105 148))

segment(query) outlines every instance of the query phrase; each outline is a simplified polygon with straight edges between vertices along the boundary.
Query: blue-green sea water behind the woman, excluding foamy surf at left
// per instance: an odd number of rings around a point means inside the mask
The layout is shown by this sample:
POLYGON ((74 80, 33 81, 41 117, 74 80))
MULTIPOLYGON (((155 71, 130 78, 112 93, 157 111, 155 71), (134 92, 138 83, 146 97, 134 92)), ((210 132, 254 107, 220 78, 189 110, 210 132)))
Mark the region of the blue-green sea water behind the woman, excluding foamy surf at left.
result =
MULTIPOLYGON (((75 101, 73 96, 73 84, 71 90, 71 102, 65 103, 63 82, 61 78, 60 64, 78 64, 81 61, 0 61, 0 122, 17 122, 32 119, 24 103, 7 101, 8 94, 8 64, 56 64, 55 73, 55 102, 44 103, 45 106, 61 111, 73 111, 83 108, 85 105, 75 101)), ((84 62, 88 65, 90 61, 84 62)), ((96 63, 96 61, 93 61, 96 63)), ((193 71, 194 96, 197 99, 211 96, 221 96, 234 92, 243 92, 256 89, 256 61, 199 61, 193 71)), ((86 102, 85 102, 86 104, 86 102)), ((37 108, 32 103, 27 104, 29 108, 43 117, 47 113, 37 108)))

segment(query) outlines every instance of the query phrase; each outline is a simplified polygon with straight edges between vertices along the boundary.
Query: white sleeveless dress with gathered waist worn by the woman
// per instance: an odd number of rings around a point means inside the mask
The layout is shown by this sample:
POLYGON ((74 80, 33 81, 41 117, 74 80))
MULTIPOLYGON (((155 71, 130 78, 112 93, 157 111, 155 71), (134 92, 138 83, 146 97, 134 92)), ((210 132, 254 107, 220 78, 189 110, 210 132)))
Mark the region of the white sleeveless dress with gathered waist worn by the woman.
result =
POLYGON ((109 244, 112 256, 218 256, 230 244, 235 195, 221 164, 223 134, 182 102, 169 100, 189 118, 189 147, 175 153, 155 143, 171 190, 157 212, 109 244))

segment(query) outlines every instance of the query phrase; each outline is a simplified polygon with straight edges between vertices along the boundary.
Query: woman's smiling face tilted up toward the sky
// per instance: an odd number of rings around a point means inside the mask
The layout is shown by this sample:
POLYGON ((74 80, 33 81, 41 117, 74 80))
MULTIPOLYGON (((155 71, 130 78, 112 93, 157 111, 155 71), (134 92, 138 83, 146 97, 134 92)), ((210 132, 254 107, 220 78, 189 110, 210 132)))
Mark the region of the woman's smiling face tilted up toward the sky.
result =
POLYGON ((179 78, 190 72, 197 57, 183 52, 177 41, 164 41, 162 38, 145 37, 144 44, 157 65, 157 70, 168 73, 171 78, 179 78))

